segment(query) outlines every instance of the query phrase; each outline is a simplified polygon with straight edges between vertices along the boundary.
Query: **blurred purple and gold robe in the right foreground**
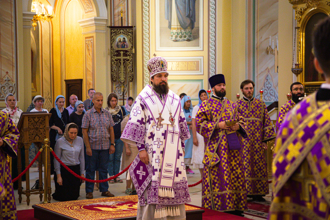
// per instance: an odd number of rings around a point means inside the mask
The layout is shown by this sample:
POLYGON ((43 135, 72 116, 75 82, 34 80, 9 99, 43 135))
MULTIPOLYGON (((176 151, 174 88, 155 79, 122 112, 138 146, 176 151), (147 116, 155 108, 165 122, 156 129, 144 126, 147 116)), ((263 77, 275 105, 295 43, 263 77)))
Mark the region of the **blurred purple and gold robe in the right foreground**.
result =
POLYGON ((299 102, 279 129, 269 219, 330 218, 330 101, 299 102))

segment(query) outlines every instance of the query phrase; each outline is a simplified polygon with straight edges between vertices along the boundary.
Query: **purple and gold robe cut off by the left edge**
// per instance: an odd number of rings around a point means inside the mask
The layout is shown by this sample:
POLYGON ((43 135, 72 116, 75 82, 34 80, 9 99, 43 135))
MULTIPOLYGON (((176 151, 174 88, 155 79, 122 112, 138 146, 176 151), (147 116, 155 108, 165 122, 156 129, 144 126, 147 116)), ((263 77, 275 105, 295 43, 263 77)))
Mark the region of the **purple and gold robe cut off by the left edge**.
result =
POLYGON ((0 183, 5 190, 5 196, 1 199, 0 204, 0 219, 17 219, 15 196, 10 175, 9 166, 7 163, 7 155, 17 157, 17 141, 19 132, 16 125, 3 111, 0 111, 0 137, 4 145, 0 147, 0 183))

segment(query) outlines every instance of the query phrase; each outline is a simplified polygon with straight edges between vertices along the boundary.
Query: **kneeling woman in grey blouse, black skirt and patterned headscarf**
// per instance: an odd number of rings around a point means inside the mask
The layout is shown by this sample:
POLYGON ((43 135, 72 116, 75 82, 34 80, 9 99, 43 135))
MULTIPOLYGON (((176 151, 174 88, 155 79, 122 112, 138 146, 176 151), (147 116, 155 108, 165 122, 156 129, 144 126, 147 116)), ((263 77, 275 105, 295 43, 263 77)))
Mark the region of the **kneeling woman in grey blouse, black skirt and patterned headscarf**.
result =
MULTIPOLYGON (((83 140, 77 136, 78 126, 75 123, 66 125, 64 136, 56 141, 54 152, 57 157, 78 175, 85 177, 85 158, 83 140)), ((54 200, 77 200, 80 185, 84 182, 67 171, 56 159, 54 159, 55 192, 54 200)))

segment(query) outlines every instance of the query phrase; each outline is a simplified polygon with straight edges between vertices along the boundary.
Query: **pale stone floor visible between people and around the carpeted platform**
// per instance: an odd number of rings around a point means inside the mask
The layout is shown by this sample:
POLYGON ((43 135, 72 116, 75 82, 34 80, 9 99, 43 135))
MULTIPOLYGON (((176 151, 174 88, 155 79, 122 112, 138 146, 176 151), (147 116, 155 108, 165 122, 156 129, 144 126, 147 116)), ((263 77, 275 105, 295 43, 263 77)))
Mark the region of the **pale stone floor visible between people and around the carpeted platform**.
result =
MULTIPOLYGON (((200 173, 198 169, 193 170, 195 174, 187 174, 188 177, 188 184, 194 184, 201 180, 200 173)), ((30 188, 33 186, 34 182, 36 179, 38 179, 38 168, 30 168, 30 188)), ((109 191, 114 194, 115 196, 125 196, 125 190, 126 190, 126 183, 125 183, 125 173, 120 176, 121 179, 123 179, 123 183, 114 183, 114 184, 109 184, 109 191)), ((25 182, 22 182, 22 186, 25 189, 25 182)), ((55 184, 53 180, 53 176, 51 176, 51 188, 52 192, 54 192, 55 189, 55 184)), ((199 184, 195 187, 189 188, 190 192, 190 197, 191 197, 191 202, 189 204, 192 205, 197 205, 197 206, 202 206, 202 184, 199 184)), ((94 191, 93 193, 94 199, 95 198, 101 198, 101 193, 99 191, 94 191)), ((16 206, 17 210, 23 210, 23 209, 31 209, 33 204, 39 204, 40 198, 39 195, 31 195, 30 196, 30 205, 27 205, 26 203, 26 196, 22 195, 22 203, 18 202, 18 194, 17 190, 15 190, 15 198, 16 198, 16 206)), ((81 188, 80 188, 80 197, 78 200, 84 200, 85 198, 85 184, 83 183, 81 188)), ((271 201, 271 193, 266 196, 267 201, 271 201)), ((57 202, 55 200, 51 200, 51 202, 57 202)), ((254 220, 261 220, 262 218, 254 217, 245 214, 245 217, 249 219, 254 219, 254 220)))

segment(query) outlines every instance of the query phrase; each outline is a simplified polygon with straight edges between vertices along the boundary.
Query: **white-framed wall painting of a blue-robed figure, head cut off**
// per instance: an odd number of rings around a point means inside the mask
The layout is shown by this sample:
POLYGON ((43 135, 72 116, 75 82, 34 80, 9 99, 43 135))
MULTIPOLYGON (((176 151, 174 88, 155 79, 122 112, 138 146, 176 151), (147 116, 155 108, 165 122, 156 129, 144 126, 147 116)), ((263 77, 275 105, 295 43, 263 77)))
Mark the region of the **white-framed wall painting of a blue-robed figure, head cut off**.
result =
POLYGON ((203 50, 203 1, 155 0, 156 51, 203 50))

